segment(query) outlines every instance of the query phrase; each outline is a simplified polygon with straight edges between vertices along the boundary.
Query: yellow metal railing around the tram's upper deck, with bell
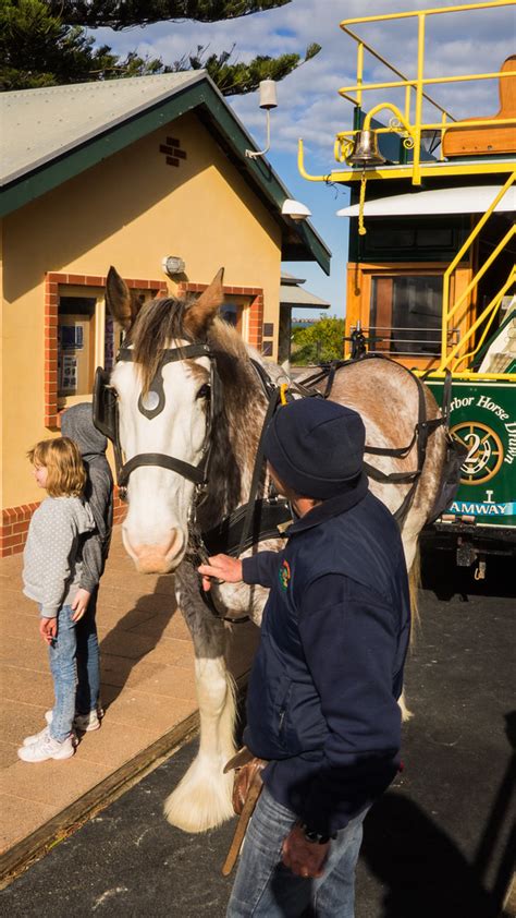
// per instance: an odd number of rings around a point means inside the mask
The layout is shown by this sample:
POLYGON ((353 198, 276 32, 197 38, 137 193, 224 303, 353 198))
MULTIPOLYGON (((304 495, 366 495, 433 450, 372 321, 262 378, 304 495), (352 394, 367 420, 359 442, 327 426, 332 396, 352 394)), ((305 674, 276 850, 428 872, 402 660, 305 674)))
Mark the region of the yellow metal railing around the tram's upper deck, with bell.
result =
MULTIPOLYGON (((449 83, 469 82, 475 80, 515 78, 514 71, 464 74, 462 76, 453 75, 425 77, 425 37, 427 17, 433 15, 442 15, 445 13, 470 12, 472 10, 492 10, 497 9, 499 7, 513 5, 515 5, 515 0, 490 0, 490 2, 483 3, 465 3, 460 7, 441 7, 437 9, 418 10, 408 13, 386 13, 384 15, 358 16, 356 19, 343 20, 343 22, 341 22, 341 28, 357 43, 357 64, 356 82, 349 86, 341 87, 341 89, 339 90, 340 95, 352 101, 359 109, 361 109, 364 94, 366 92, 403 88, 405 89, 405 104, 403 111, 397 105, 394 105, 393 102, 383 102, 377 105, 374 106, 374 108, 372 108, 366 113, 364 124, 360 128, 355 128, 353 130, 336 134, 334 143, 334 156, 336 161, 339 164, 345 164, 353 148, 353 140, 358 133, 358 131, 369 130, 372 118, 380 111, 388 110, 391 111, 394 117, 391 118, 390 124, 388 126, 379 128, 377 129, 377 132, 379 134, 392 132, 398 133, 402 137, 404 147, 406 149, 413 150, 413 161, 408 165, 400 164, 398 169, 393 169, 392 166, 388 168, 377 166, 370 168, 369 170, 366 169, 366 171, 368 171, 368 177, 402 178, 405 176, 410 176, 413 184, 421 184, 421 179, 425 177, 425 174, 427 174, 428 170, 431 168, 429 164, 425 165, 425 160, 421 161, 421 136, 423 132, 441 132, 442 137, 444 132, 446 131, 453 131, 456 129, 464 128, 464 122, 455 121, 453 116, 442 105, 440 105, 440 102, 438 102, 435 99, 428 95, 428 93, 426 92, 426 87, 449 83), (407 76, 405 76, 400 70, 397 70, 397 68, 395 68, 388 60, 385 60, 385 58, 383 58, 378 51, 376 51, 370 45, 368 45, 363 38, 360 38, 360 36, 356 35, 355 32, 353 32, 349 28, 351 25, 356 24, 364 24, 370 22, 379 23, 386 22, 390 20, 404 19, 417 19, 418 23, 417 72, 414 78, 408 78, 407 76), (366 51, 372 55, 381 63, 383 63, 392 73, 394 73, 400 78, 390 80, 385 82, 366 83, 364 80, 364 60, 366 51), (354 95, 349 95, 351 93, 353 93, 354 95), (411 118, 410 113, 413 100, 411 93, 415 93, 414 118, 411 118), (441 112, 440 121, 422 121, 423 100, 428 101, 431 106, 433 106, 438 111, 441 112), (402 170, 403 176, 400 170, 402 170)), ((468 120, 467 126, 492 126, 492 118, 475 119, 470 121, 468 120)), ((516 124, 516 118, 496 118, 496 126, 511 124, 516 124)), ((464 172, 489 173, 495 170, 504 171, 503 167, 501 167, 500 160, 496 164, 488 161, 482 164, 476 162, 465 165, 453 162, 442 165, 444 166, 444 171, 446 171, 449 174, 458 174, 464 172)), ((300 174, 308 181, 328 181, 329 179, 331 181, 349 181, 349 179, 353 178, 359 179, 361 172, 361 170, 353 169, 349 167, 347 170, 339 170, 336 172, 331 172, 330 176, 312 176, 308 173, 304 165, 304 148, 302 140, 299 140, 298 147, 298 168, 300 174)))

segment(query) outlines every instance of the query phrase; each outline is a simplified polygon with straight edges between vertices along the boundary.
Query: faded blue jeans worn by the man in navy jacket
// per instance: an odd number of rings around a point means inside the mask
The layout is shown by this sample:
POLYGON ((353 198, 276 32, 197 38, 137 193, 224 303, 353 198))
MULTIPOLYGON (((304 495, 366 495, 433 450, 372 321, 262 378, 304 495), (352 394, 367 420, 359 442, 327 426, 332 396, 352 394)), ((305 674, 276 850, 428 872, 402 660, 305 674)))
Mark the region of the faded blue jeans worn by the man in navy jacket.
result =
POLYGON ((354 918, 355 866, 366 813, 331 842, 324 874, 305 880, 281 861, 283 841, 297 817, 263 787, 247 829, 228 918, 354 918))

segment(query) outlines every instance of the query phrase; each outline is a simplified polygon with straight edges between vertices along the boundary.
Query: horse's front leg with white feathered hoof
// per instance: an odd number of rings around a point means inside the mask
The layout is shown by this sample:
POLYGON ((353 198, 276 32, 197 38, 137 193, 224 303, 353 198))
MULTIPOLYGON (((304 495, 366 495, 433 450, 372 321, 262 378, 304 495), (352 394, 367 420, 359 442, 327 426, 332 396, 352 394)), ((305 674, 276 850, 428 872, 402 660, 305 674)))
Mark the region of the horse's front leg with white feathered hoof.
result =
POLYGON ((232 773, 224 764, 235 751, 235 693, 224 660, 224 626, 205 606, 196 575, 183 566, 176 571, 177 604, 192 633, 199 702, 199 751, 170 794, 164 813, 185 832, 205 832, 233 816, 232 773))

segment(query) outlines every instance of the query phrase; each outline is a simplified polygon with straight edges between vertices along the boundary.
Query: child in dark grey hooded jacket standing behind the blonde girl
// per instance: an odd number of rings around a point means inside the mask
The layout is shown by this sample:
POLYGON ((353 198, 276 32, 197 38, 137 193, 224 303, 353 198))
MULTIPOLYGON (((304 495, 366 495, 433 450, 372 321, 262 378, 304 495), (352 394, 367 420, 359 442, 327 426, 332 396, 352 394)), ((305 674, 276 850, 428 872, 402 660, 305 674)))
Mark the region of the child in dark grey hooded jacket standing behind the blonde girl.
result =
POLYGON ((74 404, 63 413, 61 432, 81 450, 87 473, 84 497, 95 520, 95 531, 83 544, 79 589, 73 603, 73 608, 79 614, 79 618, 75 618, 77 692, 74 725, 79 730, 94 730, 99 728, 102 714, 96 613, 113 527, 113 478, 106 458, 108 440, 94 426, 89 402, 74 404))

